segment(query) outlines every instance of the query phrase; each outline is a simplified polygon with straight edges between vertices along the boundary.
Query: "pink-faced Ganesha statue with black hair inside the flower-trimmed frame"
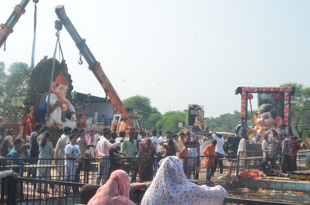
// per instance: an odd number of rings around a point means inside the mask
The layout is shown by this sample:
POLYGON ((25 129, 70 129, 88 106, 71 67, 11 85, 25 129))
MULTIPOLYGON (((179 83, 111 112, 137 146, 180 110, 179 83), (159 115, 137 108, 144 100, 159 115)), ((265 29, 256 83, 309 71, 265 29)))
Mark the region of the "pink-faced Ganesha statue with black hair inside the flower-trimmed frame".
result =
POLYGON ((277 126, 282 124, 283 120, 278 116, 278 111, 271 104, 262 104, 257 108, 256 116, 254 117, 255 128, 251 129, 254 134, 260 134, 262 137, 268 136, 271 133, 273 123, 277 126))

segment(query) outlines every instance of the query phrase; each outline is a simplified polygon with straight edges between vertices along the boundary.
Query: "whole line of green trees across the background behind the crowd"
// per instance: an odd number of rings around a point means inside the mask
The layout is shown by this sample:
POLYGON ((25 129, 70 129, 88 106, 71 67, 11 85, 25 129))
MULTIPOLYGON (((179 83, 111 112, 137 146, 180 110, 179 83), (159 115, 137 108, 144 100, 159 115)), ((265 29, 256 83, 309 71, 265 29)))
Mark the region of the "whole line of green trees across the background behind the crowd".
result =
MULTIPOLYGON (((9 74, 5 72, 5 64, 0 61, 0 116, 10 118, 10 122, 16 123, 20 109, 12 106, 12 97, 16 93, 21 94, 29 89, 28 78, 31 68, 27 63, 14 62, 8 68, 9 74)), ((291 98, 291 127, 295 135, 308 137, 310 134, 310 87, 297 83, 288 82, 281 87, 295 87, 295 94, 291 98)), ((171 130, 179 132, 179 123, 185 125, 185 110, 172 110, 161 113, 157 107, 153 107, 151 99, 147 96, 135 95, 123 100, 125 106, 132 107, 130 114, 138 115, 140 123, 146 131, 158 129, 162 131, 171 130)), ((255 110, 253 111, 255 113, 255 110)), ((212 130, 219 132, 235 133, 236 126, 240 120, 240 111, 220 114, 218 117, 210 117, 209 122, 212 130)), ((252 124, 250 111, 248 111, 248 125, 252 124)))

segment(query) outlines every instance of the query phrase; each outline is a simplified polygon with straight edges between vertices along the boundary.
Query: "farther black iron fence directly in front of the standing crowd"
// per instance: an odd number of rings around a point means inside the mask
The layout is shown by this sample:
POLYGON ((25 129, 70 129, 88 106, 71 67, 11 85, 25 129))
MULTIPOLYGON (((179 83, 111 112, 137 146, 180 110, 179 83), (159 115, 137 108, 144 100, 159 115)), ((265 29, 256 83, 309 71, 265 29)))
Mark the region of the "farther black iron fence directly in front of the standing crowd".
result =
MULTIPOLYGON (((21 177, 103 185, 117 169, 126 171, 131 182, 152 181, 162 158, 83 158, 9 159, 0 158, 0 171, 14 170, 21 177)), ((182 158, 184 173, 196 184, 232 181, 238 176, 237 155, 182 158)), ((39 192, 47 191, 40 183, 32 184, 39 192)), ((56 185, 56 191, 60 188, 56 185)))

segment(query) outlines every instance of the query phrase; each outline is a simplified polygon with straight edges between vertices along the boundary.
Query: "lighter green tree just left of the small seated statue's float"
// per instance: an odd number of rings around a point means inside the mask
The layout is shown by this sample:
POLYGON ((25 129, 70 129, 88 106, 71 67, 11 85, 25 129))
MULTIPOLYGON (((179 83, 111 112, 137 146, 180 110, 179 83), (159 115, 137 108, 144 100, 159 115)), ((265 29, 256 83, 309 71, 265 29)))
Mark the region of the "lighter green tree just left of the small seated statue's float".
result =
POLYGON ((162 117, 157 121, 156 127, 162 131, 170 130, 173 133, 178 133, 179 122, 184 124, 185 122, 185 112, 184 111, 169 111, 166 112, 162 117))

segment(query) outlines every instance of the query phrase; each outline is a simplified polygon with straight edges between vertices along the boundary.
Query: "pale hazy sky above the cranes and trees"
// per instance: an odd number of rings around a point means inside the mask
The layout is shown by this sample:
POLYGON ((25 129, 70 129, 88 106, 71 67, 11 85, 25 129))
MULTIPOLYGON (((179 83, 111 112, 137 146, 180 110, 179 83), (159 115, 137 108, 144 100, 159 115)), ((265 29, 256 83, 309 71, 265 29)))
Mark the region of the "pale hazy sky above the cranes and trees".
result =
MULTIPOLYGON (((20 0, 0 0, 5 23, 20 0)), ((55 7, 65 11, 122 99, 151 98, 162 113, 188 104, 206 116, 240 111, 239 86, 309 86, 310 1, 40 1, 35 64, 55 48, 55 7)), ((0 61, 31 64, 34 3, 29 2, 0 61)), ((63 28, 60 42, 74 90, 104 97, 63 28)), ((58 54, 57 54, 58 56, 58 54)), ((298 91, 297 91, 298 92, 298 91)), ((254 103, 256 104, 256 103, 254 103)))

